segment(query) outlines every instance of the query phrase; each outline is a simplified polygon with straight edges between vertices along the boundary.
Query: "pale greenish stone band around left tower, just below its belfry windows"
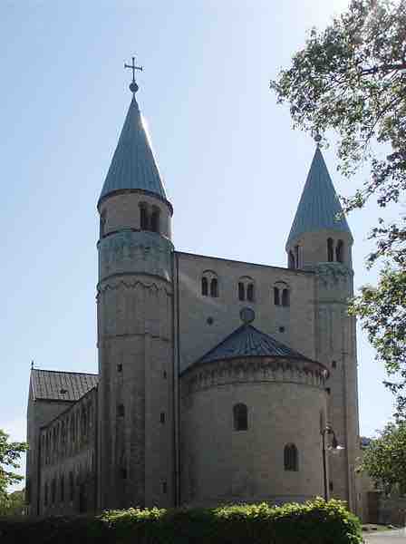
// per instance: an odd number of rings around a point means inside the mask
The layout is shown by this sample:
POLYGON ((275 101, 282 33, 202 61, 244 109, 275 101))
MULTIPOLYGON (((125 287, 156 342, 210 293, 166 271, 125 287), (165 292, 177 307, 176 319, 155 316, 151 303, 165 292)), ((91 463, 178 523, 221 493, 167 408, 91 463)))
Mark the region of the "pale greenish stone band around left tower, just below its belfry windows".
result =
POLYGON ((100 281, 128 273, 171 279, 173 245, 155 232, 121 230, 102 238, 98 249, 100 281))

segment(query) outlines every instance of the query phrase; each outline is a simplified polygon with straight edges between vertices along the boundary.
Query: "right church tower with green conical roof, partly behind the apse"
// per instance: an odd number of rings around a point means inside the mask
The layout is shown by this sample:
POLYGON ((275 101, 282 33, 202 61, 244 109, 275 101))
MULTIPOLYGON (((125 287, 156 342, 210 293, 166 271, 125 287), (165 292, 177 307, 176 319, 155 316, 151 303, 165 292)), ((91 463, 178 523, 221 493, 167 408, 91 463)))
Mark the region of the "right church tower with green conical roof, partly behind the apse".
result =
POLYGON ((330 496, 356 511, 354 464, 359 455, 355 320, 347 314, 353 296, 353 236, 319 147, 287 239, 288 267, 314 271, 314 357, 330 371, 328 423, 343 450, 329 459, 330 496))

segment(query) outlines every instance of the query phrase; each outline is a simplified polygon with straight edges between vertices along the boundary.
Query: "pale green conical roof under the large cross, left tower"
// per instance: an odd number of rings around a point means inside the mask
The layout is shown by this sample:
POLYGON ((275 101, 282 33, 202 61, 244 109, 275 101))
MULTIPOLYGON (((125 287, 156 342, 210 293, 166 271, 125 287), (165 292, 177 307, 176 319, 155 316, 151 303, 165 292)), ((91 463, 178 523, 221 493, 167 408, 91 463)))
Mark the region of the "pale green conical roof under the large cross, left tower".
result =
POLYGON ((167 199, 135 97, 131 100, 99 201, 121 189, 142 189, 167 199))

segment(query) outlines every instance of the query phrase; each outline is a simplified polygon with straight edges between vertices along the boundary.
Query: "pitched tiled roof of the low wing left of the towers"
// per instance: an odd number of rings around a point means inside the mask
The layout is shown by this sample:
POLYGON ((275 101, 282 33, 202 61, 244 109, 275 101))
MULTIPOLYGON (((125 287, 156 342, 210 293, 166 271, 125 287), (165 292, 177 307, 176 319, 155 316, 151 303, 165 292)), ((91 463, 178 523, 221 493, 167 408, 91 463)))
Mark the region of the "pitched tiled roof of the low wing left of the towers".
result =
POLYGON ((36 400, 78 401, 98 381, 98 374, 82 374, 79 372, 60 372, 34 368, 31 374, 33 395, 36 400))

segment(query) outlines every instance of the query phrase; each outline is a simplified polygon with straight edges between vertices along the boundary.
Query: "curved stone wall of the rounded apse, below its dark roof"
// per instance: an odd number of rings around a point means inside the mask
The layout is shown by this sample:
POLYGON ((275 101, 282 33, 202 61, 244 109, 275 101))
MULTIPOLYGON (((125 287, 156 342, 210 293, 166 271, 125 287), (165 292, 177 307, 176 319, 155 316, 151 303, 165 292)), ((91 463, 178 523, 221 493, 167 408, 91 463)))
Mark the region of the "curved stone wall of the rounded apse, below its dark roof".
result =
POLYGON ((181 503, 303 501, 323 494, 324 371, 255 358, 191 368, 181 378, 181 503), (233 422, 247 406, 247 430, 233 422), (295 444, 297 470, 285 467, 295 444), (286 469, 286 470, 285 470, 286 469))

